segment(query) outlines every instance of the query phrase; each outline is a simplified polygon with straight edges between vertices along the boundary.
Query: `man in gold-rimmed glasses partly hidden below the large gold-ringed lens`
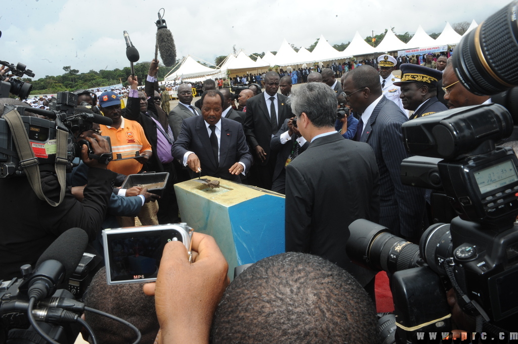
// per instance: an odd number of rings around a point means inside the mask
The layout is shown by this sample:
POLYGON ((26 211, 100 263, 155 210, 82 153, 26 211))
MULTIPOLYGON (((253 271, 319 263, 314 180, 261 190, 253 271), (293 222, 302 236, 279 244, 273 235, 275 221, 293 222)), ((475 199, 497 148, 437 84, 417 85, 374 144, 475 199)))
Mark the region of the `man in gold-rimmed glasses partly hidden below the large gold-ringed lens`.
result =
POLYGON ((451 57, 448 58, 446 68, 444 68, 442 72, 442 85, 444 100, 448 101, 449 109, 491 103, 490 96, 477 96, 469 92, 468 89, 459 82, 453 70, 453 59, 451 57))

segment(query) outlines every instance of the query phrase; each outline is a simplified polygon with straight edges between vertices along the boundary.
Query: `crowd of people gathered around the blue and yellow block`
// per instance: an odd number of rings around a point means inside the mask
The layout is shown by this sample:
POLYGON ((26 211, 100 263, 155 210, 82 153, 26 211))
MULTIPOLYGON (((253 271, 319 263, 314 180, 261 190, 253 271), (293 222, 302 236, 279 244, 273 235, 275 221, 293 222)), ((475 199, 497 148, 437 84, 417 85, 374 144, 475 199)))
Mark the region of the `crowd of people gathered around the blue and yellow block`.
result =
MULTIPOLYGON (((74 133, 90 143, 93 155, 80 146, 82 161, 56 207, 39 199, 25 177, 0 179, 0 190, 12 195, 0 199, 11 214, 0 229, 0 279, 19 277, 21 265, 34 265, 70 227, 82 228, 99 248, 100 230, 134 226, 137 214, 144 225, 179 222, 173 185, 203 174, 283 193, 288 253, 253 264, 228 286, 228 265, 212 237, 194 233, 192 264, 181 243, 167 244, 156 283, 143 287, 155 297, 159 342, 377 342, 375 274, 347 256, 348 227, 367 219, 418 243, 431 223, 430 205, 424 189, 401 183, 400 164, 409 157, 401 125, 491 101, 458 82, 451 58, 427 55, 423 65, 412 64, 413 58, 384 54, 325 68, 208 79, 195 103, 193 84, 160 88, 156 60, 143 87, 129 76, 119 90, 79 90, 84 106, 75 111, 102 113, 112 124, 74 133), (237 104, 229 89, 236 83, 249 85, 237 104), (296 83, 303 85, 292 89, 296 83), (163 95, 173 87, 179 102, 169 109, 163 95), (110 138, 111 152, 101 133, 110 138), (108 164, 95 158, 110 153, 108 164), (142 172, 169 173, 160 197, 142 187, 120 188, 126 176, 142 172), (27 210, 37 214, 22 215, 27 210)), ((28 106, 45 101, 48 106, 45 98, 28 106)), ((56 200, 54 171, 41 174, 44 192, 56 200)), ((93 286, 87 301, 113 312, 103 300, 138 294, 98 281, 93 286)), ((142 308, 151 304, 142 302, 142 308)), ((94 323, 109 338, 105 342, 117 342, 110 330, 122 330, 94 323)), ((145 327, 147 333, 157 329, 156 322, 145 327)))

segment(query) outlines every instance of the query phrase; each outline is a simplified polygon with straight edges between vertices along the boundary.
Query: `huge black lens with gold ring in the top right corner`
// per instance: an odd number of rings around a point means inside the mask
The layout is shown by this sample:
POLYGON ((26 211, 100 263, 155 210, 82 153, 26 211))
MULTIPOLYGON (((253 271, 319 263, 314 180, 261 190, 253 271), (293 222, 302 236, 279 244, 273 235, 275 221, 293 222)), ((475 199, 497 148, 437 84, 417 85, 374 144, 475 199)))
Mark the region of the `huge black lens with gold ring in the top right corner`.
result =
POLYGON ((463 37, 453 55, 455 73, 470 92, 493 95, 518 86, 518 69, 509 56, 518 55, 516 2, 502 8, 463 37))

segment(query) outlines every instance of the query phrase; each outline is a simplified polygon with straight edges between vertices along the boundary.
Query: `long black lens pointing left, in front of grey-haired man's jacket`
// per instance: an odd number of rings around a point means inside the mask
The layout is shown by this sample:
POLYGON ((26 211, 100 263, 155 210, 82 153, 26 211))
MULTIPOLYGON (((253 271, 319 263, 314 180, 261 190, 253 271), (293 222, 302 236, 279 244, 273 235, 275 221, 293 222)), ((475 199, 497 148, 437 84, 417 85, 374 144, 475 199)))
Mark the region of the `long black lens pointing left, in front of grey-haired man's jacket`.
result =
POLYGON ((371 270, 394 273, 423 265, 419 246, 393 235, 389 229, 359 219, 349 226, 347 255, 371 270))

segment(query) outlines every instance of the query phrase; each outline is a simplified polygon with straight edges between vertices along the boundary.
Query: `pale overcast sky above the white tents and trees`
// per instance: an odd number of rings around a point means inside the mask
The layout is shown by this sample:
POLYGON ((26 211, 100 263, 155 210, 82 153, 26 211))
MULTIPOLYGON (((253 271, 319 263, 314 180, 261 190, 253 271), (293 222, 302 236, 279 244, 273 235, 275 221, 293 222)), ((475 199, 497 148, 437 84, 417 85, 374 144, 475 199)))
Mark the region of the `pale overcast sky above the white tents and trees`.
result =
POLYGON ((509 1, 410 1, 406 3, 413 5, 399 5, 403 3, 3 0, 0 60, 25 64, 36 74, 35 79, 61 75, 63 66, 81 73, 123 68, 129 66, 122 33, 126 30, 140 61, 150 61, 154 56, 154 22, 163 6, 177 56, 191 54, 214 63, 215 57, 231 53, 234 45, 249 54, 277 51, 283 38, 307 48, 321 34, 333 45, 352 40, 356 31, 366 37, 372 30, 377 35, 389 27, 394 27, 396 34, 413 34, 421 24, 428 34, 440 33, 447 21, 453 24, 474 19, 480 24, 509 1))

